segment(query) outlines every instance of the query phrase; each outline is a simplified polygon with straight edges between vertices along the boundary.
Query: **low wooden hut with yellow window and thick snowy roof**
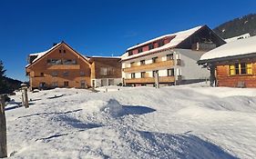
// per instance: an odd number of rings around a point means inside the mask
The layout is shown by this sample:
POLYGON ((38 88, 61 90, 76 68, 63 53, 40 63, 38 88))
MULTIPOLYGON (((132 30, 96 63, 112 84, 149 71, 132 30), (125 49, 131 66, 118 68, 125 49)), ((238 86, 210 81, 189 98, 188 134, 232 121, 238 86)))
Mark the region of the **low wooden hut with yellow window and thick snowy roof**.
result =
POLYGON ((256 87, 256 36, 221 45, 200 57, 217 86, 256 87))

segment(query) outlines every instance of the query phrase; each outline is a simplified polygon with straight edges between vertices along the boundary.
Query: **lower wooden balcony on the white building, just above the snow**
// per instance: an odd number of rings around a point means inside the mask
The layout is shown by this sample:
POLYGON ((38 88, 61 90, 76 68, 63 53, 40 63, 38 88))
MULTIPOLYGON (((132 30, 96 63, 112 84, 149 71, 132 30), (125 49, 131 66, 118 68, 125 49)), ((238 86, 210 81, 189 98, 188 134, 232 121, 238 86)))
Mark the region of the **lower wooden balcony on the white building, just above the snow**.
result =
MULTIPOLYGON (((159 83, 172 83, 175 82, 174 76, 159 76, 159 83)), ((125 79, 126 84, 154 84, 154 77, 146 77, 146 78, 131 78, 125 79)))

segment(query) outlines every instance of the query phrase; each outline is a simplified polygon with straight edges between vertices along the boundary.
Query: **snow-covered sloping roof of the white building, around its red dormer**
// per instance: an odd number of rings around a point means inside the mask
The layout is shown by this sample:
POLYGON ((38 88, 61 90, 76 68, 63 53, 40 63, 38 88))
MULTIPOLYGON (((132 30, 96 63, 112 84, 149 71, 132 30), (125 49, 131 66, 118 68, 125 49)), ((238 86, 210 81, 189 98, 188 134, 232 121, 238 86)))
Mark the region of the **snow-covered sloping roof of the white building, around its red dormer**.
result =
POLYGON ((128 50, 130 49, 134 49, 134 48, 137 48, 139 46, 142 46, 142 45, 147 45, 151 42, 154 42, 154 41, 157 41, 159 39, 162 39, 164 37, 168 37, 168 36, 175 36, 172 40, 170 40, 170 42, 166 45, 163 45, 163 46, 160 46, 160 47, 157 47, 157 48, 154 48, 154 49, 151 49, 151 50, 148 50, 146 52, 142 52, 142 53, 139 53, 137 55, 129 55, 127 57, 123 57, 122 60, 128 60, 130 58, 134 58, 134 57, 138 57, 140 55, 148 55, 152 52, 158 52, 160 50, 163 50, 163 49, 168 49, 168 48, 172 48, 172 47, 175 47, 176 45, 179 45, 181 42, 183 42, 185 39, 187 39, 190 35, 193 35, 195 32, 197 32, 198 30, 200 30, 200 28, 202 28, 203 25, 200 25, 200 26, 197 26, 197 27, 194 27, 194 28, 191 28, 189 30, 185 30, 185 31, 181 31, 181 32, 178 32, 178 33, 174 33, 174 34, 170 34, 170 35, 162 35, 162 36, 159 36, 157 38, 154 38, 152 40, 149 40, 145 43, 142 43, 140 45, 135 45, 135 46, 132 46, 132 47, 129 47, 128 50))

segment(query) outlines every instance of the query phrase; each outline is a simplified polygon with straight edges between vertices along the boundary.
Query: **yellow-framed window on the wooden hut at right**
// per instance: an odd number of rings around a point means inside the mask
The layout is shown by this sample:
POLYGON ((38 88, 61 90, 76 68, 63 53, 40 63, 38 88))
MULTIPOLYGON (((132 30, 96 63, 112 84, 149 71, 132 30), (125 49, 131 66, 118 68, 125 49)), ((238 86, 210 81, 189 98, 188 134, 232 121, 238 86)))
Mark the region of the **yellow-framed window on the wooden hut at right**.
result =
POLYGON ((235 63, 230 65, 230 75, 252 75, 252 64, 235 63))

